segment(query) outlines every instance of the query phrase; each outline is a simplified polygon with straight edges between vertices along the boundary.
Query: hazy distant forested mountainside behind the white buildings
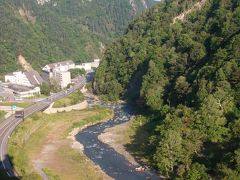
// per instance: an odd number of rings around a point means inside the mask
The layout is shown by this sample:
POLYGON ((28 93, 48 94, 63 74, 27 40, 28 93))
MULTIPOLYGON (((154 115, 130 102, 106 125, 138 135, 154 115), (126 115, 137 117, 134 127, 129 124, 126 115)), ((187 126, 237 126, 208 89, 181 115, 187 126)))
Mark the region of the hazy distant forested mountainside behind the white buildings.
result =
POLYGON ((102 54, 153 0, 0 0, 0 73, 22 55, 33 67, 102 54))

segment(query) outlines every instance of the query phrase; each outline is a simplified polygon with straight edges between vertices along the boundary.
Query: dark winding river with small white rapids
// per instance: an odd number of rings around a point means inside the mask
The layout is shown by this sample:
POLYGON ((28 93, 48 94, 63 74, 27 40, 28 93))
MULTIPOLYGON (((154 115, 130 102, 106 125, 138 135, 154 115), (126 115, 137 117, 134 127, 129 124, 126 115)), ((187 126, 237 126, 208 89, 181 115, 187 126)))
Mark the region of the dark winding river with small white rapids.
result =
MULTIPOLYGON (((88 100, 88 102, 91 105, 91 100, 88 100)), ((100 135, 106 128, 122 124, 132 117, 132 113, 128 106, 112 106, 106 104, 101 105, 113 108, 115 117, 108 122, 88 127, 76 135, 76 139, 84 146, 84 153, 89 159, 99 165, 106 174, 114 179, 160 179, 156 173, 150 170, 137 172, 135 170, 136 166, 130 164, 113 148, 98 140, 98 135, 100 135)))

